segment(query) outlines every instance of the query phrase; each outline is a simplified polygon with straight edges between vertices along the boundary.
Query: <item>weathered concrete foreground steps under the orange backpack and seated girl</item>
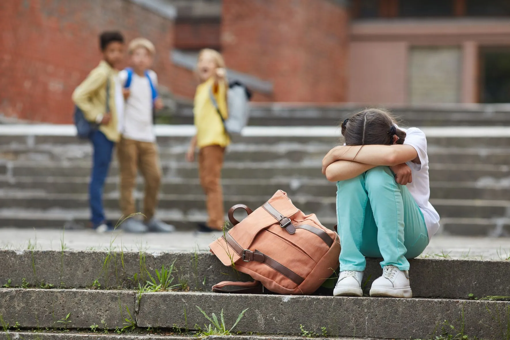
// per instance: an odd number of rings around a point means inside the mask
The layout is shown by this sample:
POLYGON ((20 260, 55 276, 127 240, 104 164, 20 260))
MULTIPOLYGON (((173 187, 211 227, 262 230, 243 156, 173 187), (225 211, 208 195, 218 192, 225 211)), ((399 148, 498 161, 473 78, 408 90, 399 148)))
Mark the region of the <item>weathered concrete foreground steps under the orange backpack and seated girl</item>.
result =
MULTIPOLYGON (((0 283, 5 284, 0 288, 0 316, 10 327, 4 329, 9 333, 0 329, 2 340, 102 338, 99 334, 106 328, 109 335, 102 336, 112 339, 142 334, 139 338, 156 338, 154 333, 185 338, 210 323, 196 306, 209 315, 223 310, 227 326, 248 308, 234 330, 243 340, 258 339, 252 334, 295 337, 303 329, 314 336, 326 332, 349 338, 454 338, 443 337, 444 332, 461 333, 458 338, 463 339, 510 336, 510 302, 487 297, 510 292, 508 261, 411 260, 416 298, 385 299, 335 298, 327 288, 305 297, 209 293, 218 281, 249 280, 209 253, 29 249, 0 251, 0 258, 0 283), (173 283, 180 284, 177 291, 144 293, 135 288, 147 273, 154 276, 156 269, 172 263, 173 283), (126 324, 134 329, 116 334, 114 330, 126 324), (55 334, 59 329, 60 335, 55 334)), ((380 275, 377 262, 368 261, 366 290, 380 275)))

